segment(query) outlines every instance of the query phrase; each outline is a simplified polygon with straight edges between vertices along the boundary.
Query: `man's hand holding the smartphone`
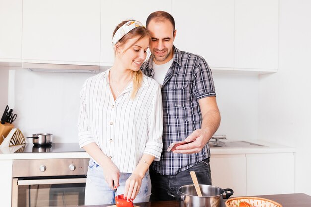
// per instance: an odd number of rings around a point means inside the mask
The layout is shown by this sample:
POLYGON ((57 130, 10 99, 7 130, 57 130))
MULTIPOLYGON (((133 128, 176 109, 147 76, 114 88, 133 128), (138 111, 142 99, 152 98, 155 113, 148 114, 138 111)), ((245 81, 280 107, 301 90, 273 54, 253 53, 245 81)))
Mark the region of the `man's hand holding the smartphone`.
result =
POLYGON ((185 141, 188 144, 177 146, 173 153, 192 154, 202 150, 206 143, 210 140, 210 133, 203 129, 197 129, 193 131, 185 141))

